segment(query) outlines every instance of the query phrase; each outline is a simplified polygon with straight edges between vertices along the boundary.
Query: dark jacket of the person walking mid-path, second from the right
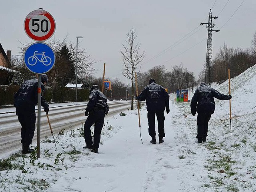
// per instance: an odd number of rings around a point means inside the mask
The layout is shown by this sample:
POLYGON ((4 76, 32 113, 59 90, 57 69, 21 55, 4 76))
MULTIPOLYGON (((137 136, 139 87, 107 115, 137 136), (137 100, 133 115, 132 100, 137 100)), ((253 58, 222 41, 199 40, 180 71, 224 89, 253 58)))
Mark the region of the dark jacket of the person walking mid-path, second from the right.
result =
POLYGON ((144 87, 140 95, 136 97, 136 100, 146 100, 147 111, 164 111, 165 108, 169 109, 168 93, 162 86, 154 82, 144 87))

